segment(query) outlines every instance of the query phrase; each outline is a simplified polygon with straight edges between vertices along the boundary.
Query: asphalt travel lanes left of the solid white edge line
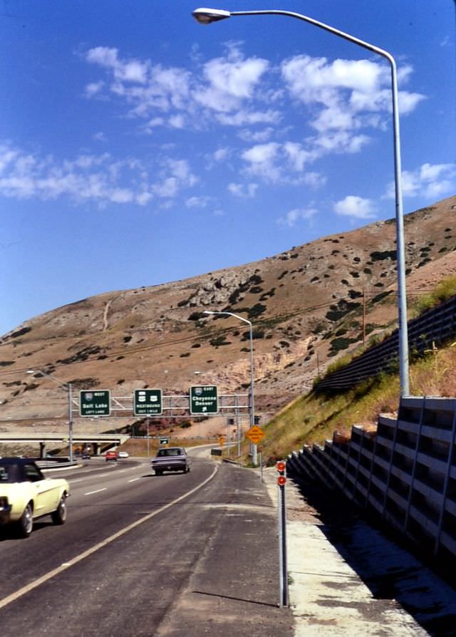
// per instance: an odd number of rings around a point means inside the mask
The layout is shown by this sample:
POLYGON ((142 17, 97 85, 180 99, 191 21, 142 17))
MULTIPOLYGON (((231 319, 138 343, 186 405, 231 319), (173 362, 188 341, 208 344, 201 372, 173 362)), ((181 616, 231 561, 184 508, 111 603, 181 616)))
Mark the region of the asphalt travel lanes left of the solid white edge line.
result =
POLYGON ((53 472, 53 477, 66 477, 70 483, 67 522, 56 527, 50 517, 39 519, 26 540, 16 539, 12 529, 4 529, 0 535, 0 599, 190 491, 212 468, 209 462, 198 462, 190 474, 156 477, 147 461, 97 459, 81 470, 53 472), (18 564, 26 568, 18 569, 18 564))

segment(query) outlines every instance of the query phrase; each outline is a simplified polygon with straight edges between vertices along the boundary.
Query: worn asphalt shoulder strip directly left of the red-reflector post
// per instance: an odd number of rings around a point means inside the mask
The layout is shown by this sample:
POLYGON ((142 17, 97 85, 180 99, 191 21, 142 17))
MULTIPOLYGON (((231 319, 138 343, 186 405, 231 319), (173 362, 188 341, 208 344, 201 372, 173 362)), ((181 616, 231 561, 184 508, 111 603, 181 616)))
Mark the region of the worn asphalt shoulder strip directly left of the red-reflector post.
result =
POLYGON ((293 614, 278 606, 276 509, 258 475, 222 465, 201 500, 212 533, 157 637, 292 636, 293 614))

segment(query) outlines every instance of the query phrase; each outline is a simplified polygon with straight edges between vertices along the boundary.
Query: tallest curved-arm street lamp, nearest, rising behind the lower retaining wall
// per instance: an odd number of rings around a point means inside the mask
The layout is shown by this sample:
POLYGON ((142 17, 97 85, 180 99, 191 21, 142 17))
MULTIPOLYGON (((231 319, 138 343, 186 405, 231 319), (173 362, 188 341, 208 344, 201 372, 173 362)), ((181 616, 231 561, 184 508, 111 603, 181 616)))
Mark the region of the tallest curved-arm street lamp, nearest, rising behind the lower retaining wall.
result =
POLYGON ((294 11, 266 10, 266 11, 224 11, 223 9, 195 9, 192 14, 200 24, 210 24, 219 20, 225 20, 232 16, 263 16, 277 15, 289 16, 303 20, 319 29, 329 31, 335 36, 343 38, 366 48, 368 51, 382 56, 391 69, 391 96, 393 102, 393 142, 394 142, 394 177, 395 177, 395 218, 396 218, 396 248, 398 264, 398 339, 399 339, 399 376, 401 397, 410 395, 409 371, 408 371, 408 327, 407 327, 407 295, 405 291, 405 248, 404 248, 404 223, 402 204, 402 177, 400 166, 400 133, 399 133, 399 108, 398 108, 398 74, 393 56, 366 41, 360 40, 349 33, 339 31, 333 26, 319 22, 303 14, 294 11))

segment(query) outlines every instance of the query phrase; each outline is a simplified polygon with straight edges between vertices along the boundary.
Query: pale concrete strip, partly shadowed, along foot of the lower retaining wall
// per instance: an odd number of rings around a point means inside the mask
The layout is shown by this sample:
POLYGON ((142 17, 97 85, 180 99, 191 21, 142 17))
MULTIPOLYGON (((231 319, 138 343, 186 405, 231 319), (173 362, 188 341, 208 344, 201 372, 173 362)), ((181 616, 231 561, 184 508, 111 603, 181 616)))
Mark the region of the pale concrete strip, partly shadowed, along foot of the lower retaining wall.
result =
MULTIPOLYGON (((276 475, 264 472, 273 499, 276 475)), ((288 480, 286 502, 295 637, 455 634, 454 589, 348 512, 346 500, 304 497, 288 480)))

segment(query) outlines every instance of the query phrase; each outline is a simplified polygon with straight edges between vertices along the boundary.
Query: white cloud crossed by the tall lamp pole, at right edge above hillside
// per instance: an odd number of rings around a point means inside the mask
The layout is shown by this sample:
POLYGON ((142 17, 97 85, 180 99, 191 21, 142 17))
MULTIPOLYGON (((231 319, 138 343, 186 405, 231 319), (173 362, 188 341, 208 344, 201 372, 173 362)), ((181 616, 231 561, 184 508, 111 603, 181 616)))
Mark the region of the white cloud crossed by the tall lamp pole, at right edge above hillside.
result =
MULTIPOLYGON (((402 192, 404 197, 445 197, 456 188, 456 164, 425 163, 416 170, 403 170, 402 192)), ((388 185, 385 197, 395 197, 395 184, 388 185)))

